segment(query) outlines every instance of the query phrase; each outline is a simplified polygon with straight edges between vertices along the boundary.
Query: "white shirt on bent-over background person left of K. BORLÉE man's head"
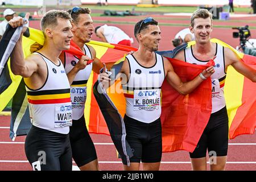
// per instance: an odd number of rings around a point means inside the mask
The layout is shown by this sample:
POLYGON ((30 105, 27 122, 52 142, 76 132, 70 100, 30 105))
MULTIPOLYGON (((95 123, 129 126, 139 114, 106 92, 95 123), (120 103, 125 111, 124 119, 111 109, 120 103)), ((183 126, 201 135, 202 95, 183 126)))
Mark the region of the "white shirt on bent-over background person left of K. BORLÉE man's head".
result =
POLYGON ((109 43, 118 44, 122 40, 130 40, 130 37, 118 27, 106 24, 102 27, 104 27, 103 34, 109 43))

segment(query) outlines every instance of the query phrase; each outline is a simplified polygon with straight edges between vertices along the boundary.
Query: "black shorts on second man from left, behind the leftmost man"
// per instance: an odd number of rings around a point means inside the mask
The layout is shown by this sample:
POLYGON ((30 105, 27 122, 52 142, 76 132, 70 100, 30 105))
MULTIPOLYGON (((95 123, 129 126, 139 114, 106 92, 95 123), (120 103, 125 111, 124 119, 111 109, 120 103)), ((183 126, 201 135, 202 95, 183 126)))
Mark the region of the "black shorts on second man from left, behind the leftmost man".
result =
POLYGON ((84 115, 73 120, 69 127, 69 139, 72 148, 72 156, 78 167, 82 167, 89 162, 97 159, 96 150, 86 128, 84 115))

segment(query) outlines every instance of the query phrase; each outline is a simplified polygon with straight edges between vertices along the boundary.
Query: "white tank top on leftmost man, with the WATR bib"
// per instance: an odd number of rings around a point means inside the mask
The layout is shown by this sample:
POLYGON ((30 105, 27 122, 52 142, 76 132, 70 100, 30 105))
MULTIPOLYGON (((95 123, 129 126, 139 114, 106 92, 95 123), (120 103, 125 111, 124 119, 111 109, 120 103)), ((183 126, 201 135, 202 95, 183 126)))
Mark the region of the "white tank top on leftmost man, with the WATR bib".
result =
POLYGON ((68 134, 67 126, 72 126, 68 77, 60 60, 59 65, 56 65, 47 57, 41 56, 47 65, 46 82, 36 90, 26 85, 32 125, 56 133, 68 134))

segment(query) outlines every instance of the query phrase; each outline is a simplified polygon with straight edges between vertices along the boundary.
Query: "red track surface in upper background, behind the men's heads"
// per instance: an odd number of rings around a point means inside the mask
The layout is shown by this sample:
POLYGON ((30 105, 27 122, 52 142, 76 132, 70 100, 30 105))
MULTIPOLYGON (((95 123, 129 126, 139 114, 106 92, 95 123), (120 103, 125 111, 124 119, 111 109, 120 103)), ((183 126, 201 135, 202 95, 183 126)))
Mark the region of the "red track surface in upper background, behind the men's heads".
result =
MULTIPOLYGON (((155 17, 155 16, 153 16, 155 17)), ((188 20, 166 20, 166 19, 160 19, 166 16, 163 15, 157 15, 156 20, 158 20, 160 23, 187 23, 189 24, 189 17, 188 16, 178 16, 178 17, 173 17, 173 18, 187 18, 188 20), (158 19, 159 18, 159 19, 158 19)), ((113 21, 118 21, 118 22, 137 22, 142 18, 134 17, 134 18, 123 18, 123 17, 107 17, 108 20, 113 21)), ((94 20, 106 20, 106 16, 104 17, 93 17, 94 20)), ((233 18, 234 20, 234 18, 233 18)), ((255 17, 247 17, 247 18, 237 18, 237 20, 250 20, 250 21, 255 21, 255 17)), ((94 27, 100 26, 103 23, 94 23, 94 27)), ((135 23, 134 23, 135 24, 135 23)), ((138 43, 133 35, 133 30, 134 30, 134 24, 113 24, 113 23, 108 23, 108 25, 112 26, 117 26, 121 28, 123 31, 126 32, 127 35, 129 35, 131 38, 134 39, 133 47, 138 47, 138 43)), ((232 47, 236 47, 239 45, 239 39, 233 38, 232 32, 235 30, 232 30, 231 28, 217 28, 214 27, 214 25, 226 25, 226 26, 233 26, 233 27, 240 27, 240 26, 245 26, 246 24, 249 24, 249 26, 255 26, 255 23, 237 23, 237 22, 229 22, 229 21, 216 21, 213 20, 213 32, 212 32, 212 38, 217 38, 222 40, 225 43, 230 44, 232 47)), ((30 26, 33 28, 40 28, 39 27, 39 21, 30 21, 30 26)), ((164 51, 164 50, 171 50, 174 47, 172 46, 171 40, 174 39, 176 33, 180 30, 185 28, 184 26, 160 26, 160 30, 162 31, 162 40, 160 41, 160 46, 159 50, 164 51)), ((256 30, 251 29, 251 38, 256 39, 256 30)), ((99 38, 96 37, 96 35, 93 34, 92 40, 98 40, 100 41, 99 38)))

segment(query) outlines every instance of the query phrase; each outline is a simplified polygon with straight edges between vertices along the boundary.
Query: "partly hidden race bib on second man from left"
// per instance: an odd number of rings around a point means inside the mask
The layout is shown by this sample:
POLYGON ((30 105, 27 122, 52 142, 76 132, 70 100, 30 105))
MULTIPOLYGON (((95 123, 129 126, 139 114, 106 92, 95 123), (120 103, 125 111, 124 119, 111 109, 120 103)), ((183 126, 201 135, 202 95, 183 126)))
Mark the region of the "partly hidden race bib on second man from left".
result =
POLYGON ((86 86, 85 87, 72 87, 71 89, 71 102, 72 109, 82 109, 86 101, 86 86))

